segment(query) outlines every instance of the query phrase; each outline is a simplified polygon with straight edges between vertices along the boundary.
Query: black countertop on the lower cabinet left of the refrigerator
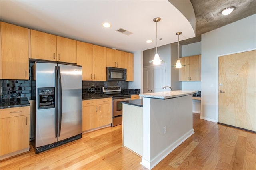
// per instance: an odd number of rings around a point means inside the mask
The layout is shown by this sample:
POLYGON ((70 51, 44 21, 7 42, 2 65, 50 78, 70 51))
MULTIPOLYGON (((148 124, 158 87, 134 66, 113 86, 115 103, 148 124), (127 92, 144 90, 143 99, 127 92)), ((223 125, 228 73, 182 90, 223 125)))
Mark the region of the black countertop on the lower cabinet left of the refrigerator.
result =
POLYGON ((11 108, 11 107, 23 107, 30 106, 27 97, 13 98, 13 99, 1 99, 0 109, 11 108))

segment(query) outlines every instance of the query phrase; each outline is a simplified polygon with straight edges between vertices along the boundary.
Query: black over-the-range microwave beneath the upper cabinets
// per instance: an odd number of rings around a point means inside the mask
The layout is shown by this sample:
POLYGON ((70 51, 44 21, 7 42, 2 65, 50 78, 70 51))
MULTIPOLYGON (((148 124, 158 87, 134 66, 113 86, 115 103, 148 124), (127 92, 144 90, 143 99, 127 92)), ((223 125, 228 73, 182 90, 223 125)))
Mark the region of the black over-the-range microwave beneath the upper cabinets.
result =
POLYGON ((107 80, 126 81, 126 69, 107 67, 107 80))

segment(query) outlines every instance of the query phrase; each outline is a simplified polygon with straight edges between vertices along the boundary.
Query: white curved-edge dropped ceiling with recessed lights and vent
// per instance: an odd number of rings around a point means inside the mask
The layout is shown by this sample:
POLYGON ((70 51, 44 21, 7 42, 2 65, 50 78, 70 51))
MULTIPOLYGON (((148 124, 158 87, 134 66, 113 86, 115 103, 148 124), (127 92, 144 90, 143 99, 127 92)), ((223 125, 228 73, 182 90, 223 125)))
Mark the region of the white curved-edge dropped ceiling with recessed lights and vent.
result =
POLYGON ((179 31, 180 40, 195 36, 190 22, 167 0, 1 0, 0 8, 1 21, 127 52, 156 47, 155 17, 161 18, 158 47, 177 42, 179 31), (103 22, 112 27, 103 28, 103 22), (119 28, 133 34, 116 32, 119 28))

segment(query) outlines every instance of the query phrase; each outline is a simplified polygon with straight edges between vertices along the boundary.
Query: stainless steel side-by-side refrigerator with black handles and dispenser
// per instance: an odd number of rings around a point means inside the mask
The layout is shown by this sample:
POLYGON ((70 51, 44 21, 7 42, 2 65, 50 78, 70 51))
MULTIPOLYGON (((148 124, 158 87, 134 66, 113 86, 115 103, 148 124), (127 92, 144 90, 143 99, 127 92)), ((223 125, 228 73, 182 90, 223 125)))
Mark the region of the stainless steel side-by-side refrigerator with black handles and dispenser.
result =
POLYGON ((82 67, 35 62, 36 153, 82 137, 82 67))

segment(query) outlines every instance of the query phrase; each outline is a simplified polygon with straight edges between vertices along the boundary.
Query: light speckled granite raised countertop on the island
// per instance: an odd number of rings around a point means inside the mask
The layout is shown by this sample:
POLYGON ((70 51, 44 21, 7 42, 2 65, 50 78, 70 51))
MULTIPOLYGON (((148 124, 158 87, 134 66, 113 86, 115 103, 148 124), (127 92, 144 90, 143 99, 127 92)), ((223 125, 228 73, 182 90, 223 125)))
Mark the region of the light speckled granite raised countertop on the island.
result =
POLYGON ((143 93, 143 94, 140 94, 140 96, 155 98, 155 99, 171 99, 174 97, 192 95, 196 92, 197 91, 194 91, 194 90, 173 90, 173 91, 162 91, 162 92, 156 92, 156 93, 143 93))

